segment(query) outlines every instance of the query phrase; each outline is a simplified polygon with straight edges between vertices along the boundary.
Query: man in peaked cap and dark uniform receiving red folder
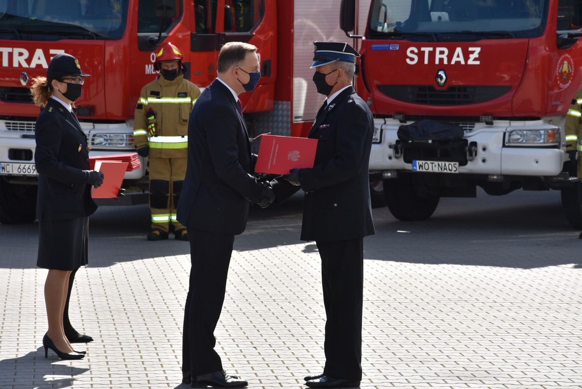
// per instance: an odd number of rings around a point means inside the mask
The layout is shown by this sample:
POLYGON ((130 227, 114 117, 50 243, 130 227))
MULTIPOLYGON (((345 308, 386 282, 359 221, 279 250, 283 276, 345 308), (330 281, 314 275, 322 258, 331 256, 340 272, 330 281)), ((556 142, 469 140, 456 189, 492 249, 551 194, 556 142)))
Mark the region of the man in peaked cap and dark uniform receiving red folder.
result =
POLYGON ((315 42, 313 81, 327 96, 308 137, 318 139, 313 168, 293 169, 275 183, 280 203, 305 192, 301 240, 315 241, 327 321, 325 367, 307 376, 313 388, 359 386, 363 303, 363 237, 374 234, 368 160, 372 112, 352 87, 356 56, 346 43, 315 42), (296 189, 293 189, 296 188, 296 189))

